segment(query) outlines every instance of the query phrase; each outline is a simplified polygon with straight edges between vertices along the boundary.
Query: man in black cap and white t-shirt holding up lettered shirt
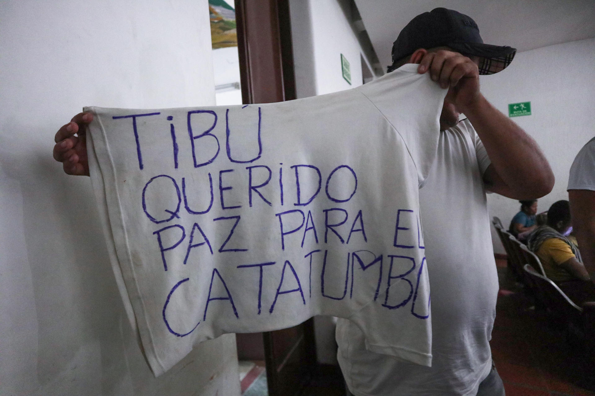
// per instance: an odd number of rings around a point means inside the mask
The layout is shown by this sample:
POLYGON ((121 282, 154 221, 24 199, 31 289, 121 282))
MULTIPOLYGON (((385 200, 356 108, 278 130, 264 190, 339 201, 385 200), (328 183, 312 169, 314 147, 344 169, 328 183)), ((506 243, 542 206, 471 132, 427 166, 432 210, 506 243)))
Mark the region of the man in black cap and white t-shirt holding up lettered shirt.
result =
POLYGON ((449 87, 436 163, 419 191, 433 361, 425 367, 369 352, 359 329, 340 319, 338 358, 353 395, 504 394, 489 345, 498 280, 486 191, 534 199, 554 183, 536 142, 480 92, 479 75, 508 66, 514 51, 483 44, 471 18, 444 8, 418 15, 394 43, 389 71, 419 64, 449 87))

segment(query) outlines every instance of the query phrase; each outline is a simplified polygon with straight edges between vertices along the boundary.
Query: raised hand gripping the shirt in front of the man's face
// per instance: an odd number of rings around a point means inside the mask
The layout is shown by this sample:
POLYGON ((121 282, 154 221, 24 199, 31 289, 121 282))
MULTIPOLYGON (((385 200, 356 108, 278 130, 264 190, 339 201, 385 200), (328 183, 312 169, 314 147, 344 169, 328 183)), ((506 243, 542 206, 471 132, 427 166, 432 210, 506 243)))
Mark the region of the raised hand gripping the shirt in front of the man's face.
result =
POLYGON ((477 61, 449 50, 427 52, 419 62, 418 72, 430 72, 433 81, 440 87, 450 88, 446 102, 465 110, 480 99, 480 73, 477 61))

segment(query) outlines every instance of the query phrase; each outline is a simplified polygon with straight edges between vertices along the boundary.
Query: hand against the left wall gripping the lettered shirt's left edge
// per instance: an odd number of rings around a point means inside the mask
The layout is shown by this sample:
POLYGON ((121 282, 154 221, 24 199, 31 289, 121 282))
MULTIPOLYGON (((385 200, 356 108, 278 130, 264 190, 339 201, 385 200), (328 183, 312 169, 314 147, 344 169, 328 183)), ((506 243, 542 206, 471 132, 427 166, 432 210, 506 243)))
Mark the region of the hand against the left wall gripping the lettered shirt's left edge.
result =
POLYGON ((86 132, 91 121, 91 113, 79 113, 56 132, 54 159, 62 163, 68 175, 89 176, 86 132))

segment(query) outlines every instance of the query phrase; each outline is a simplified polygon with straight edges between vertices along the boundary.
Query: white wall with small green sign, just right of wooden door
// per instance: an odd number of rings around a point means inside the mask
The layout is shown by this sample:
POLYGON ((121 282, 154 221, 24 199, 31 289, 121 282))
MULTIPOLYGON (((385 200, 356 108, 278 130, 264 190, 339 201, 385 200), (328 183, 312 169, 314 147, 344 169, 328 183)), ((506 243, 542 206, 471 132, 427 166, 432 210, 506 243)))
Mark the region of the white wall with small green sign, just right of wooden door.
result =
MULTIPOLYGON (((290 0, 289 6, 297 97, 327 94, 362 85, 361 56, 364 56, 364 51, 350 24, 347 2, 290 0), (351 66, 351 84, 343 78, 341 54, 351 66)), ((334 319, 316 316, 314 329, 318 362, 337 364, 334 319)))

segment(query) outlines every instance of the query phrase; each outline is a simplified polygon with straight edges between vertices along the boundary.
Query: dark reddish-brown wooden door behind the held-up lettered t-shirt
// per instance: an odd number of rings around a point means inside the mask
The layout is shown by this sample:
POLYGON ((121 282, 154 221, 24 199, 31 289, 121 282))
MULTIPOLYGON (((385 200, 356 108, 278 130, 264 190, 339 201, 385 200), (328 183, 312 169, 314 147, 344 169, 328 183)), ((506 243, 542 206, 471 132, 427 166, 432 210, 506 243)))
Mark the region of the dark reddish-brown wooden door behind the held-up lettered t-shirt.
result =
MULTIPOLYGON (((243 103, 296 99, 289 2, 236 0, 243 103)), ((298 395, 316 366, 314 321, 263 333, 270 396, 298 395)))

